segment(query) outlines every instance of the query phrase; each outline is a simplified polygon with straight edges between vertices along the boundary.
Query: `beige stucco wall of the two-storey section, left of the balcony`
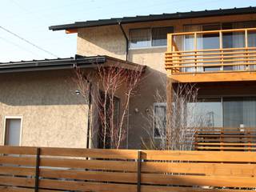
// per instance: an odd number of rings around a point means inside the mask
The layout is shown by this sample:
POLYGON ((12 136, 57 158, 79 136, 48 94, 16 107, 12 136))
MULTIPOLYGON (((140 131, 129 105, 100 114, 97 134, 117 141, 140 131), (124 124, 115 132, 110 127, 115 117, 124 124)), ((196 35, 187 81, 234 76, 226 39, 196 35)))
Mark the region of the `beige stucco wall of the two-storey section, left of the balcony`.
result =
MULTIPOLYGON (((146 129, 149 129, 150 132, 153 130, 152 125, 149 125, 146 120, 148 118, 146 111, 153 107, 156 90, 165 89, 165 50, 165 48, 129 50, 129 61, 146 65, 147 69, 130 101, 129 115, 126 118, 129 125, 127 122, 124 123, 128 134, 123 147, 140 148, 141 137, 148 137, 146 129), (138 112, 135 112, 135 109, 138 112)), ((83 29, 78 33, 78 54, 86 56, 102 54, 125 60, 126 41, 119 26, 83 29)), ((122 94, 117 96, 122 96, 122 94)), ((121 98, 121 106, 123 100, 121 98)))

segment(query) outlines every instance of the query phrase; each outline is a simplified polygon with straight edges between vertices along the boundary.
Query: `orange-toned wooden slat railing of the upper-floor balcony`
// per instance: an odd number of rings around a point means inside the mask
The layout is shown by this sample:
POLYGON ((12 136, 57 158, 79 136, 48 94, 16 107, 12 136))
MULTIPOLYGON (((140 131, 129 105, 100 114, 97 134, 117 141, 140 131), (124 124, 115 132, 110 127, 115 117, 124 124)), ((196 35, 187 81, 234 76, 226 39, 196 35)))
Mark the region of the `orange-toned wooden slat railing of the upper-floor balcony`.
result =
MULTIPOLYGON (((256 28, 168 34, 166 70, 170 70, 171 74, 255 71, 256 46, 251 46, 248 43, 250 41, 248 34, 251 33, 256 34, 256 28), (223 37, 225 38, 227 33, 241 33, 244 36, 244 45, 235 48, 223 48, 223 37), (204 34, 218 35, 219 47, 217 49, 198 49, 198 39, 203 41, 202 35, 204 34), (178 50, 178 47, 184 46, 182 43, 184 43, 187 35, 194 39, 193 45, 191 45, 193 48, 191 50, 178 50)), ((234 38, 236 37, 234 36, 234 38)))

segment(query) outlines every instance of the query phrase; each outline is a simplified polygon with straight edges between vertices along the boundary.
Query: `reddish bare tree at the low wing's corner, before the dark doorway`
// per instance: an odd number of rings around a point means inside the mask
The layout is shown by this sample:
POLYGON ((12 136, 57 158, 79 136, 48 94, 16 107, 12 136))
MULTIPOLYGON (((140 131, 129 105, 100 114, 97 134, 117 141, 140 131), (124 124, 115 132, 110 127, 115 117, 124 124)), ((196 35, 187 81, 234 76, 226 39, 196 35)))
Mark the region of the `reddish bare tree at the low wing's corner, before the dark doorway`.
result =
POLYGON ((130 98, 134 96, 134 89, 142 76, 142 66, 127 70, 122 66, 100 66, 86 74, 76 70, 74 82, 81 90, 83 98, 88 101, 89 85, 92 83, 92 101, 94 114, 92 122, 98 122, 100 129, 96 134, 102 141, 102 148, 118 149, 126 138, 124 122, 128 115, 130 98), (117 97, 122 99, 122 105, 117 109, 117 97), (119 110, 117 115, 116 110, 119 110))

